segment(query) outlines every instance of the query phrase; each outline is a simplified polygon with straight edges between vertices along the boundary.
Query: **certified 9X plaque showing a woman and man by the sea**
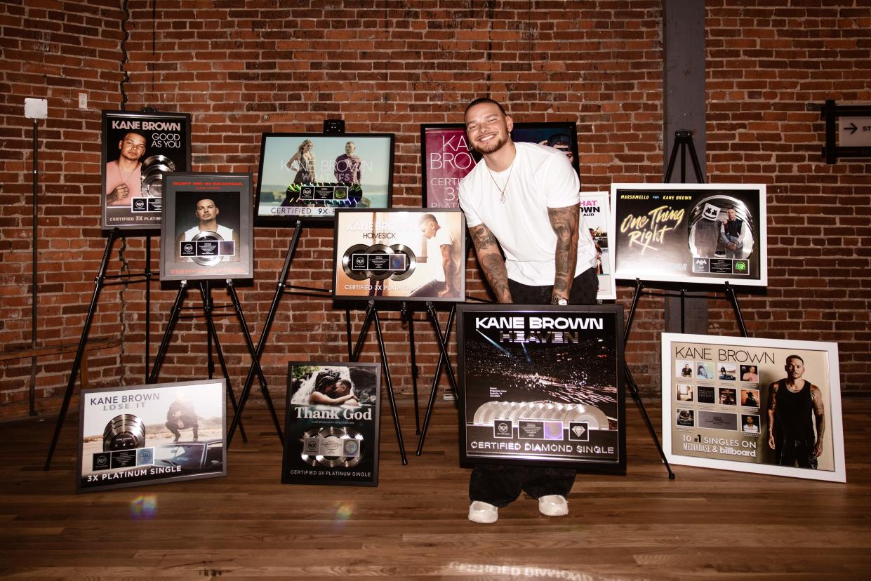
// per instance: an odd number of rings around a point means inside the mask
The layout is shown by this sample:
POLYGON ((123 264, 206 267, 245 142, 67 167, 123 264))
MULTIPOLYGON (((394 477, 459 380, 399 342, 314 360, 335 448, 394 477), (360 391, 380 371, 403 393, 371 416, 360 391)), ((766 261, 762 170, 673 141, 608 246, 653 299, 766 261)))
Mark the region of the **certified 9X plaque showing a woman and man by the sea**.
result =
POLYGON ((331 226, 336 208, 389 207, 393 141, 392 133, 264 133, 257 225, 331 226))

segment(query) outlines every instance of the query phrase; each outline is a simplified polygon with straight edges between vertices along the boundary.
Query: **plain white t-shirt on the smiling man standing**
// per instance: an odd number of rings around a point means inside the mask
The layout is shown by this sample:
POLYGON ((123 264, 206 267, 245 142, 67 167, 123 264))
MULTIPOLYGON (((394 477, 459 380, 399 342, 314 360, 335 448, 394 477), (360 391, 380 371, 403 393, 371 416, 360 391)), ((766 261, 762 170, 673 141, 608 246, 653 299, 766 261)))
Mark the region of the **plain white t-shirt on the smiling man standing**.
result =
MULTIPOLYGON (((460 181, 460 207, 469 227, 483 224, 505 253, 508 277, 524 285, 552 285, 556 268, 557 234, 548 208, 577 206, 580 180, 563 152, 534 143, 515 143, 517 155, 504 172, 492 172, 483 161, 460 181), (505 186, 500 202, 496 184, 505 186)), ((575 276, 596 266, 596 245, 580 220, 575 276)))

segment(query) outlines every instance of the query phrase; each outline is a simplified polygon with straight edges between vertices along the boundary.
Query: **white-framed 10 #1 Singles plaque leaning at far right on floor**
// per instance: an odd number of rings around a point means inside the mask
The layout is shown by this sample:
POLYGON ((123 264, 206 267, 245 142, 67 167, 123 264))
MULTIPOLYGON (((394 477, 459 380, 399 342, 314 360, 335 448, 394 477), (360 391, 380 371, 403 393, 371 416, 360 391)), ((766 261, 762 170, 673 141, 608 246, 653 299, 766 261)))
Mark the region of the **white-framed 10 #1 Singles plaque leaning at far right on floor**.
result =
POLYGON ((669 463, 846 481, 836 343, 664 333, 662 357, 669 463))

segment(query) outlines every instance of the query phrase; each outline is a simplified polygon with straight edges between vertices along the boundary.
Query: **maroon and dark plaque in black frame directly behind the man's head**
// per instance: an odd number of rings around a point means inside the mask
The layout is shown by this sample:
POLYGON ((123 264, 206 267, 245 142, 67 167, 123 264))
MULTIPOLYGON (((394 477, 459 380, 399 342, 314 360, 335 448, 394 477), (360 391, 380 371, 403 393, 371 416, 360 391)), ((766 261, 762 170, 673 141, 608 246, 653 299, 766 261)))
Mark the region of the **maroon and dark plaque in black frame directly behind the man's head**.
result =
MULTIPOLYGON (((580 178, 577 124, 573 121, 518 122, 511 130, 514 141, 543 143, 571 153, 571 166, 580 178), (562 136, 563 139, 557 139, 562 136)), ((472 151, 462 123, 421 125, 421 201, 429 209, 459 207, 460 180, 481 155, 472 151)))

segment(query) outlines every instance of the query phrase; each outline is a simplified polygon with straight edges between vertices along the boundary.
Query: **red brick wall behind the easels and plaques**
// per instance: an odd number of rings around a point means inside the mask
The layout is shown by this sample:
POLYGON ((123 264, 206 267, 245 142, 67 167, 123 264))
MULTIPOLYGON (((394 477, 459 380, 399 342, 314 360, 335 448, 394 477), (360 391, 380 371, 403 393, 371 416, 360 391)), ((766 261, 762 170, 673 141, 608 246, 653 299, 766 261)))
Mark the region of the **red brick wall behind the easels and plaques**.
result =
MULTIPOLYGON (((323 119, 344 118, 348 132, 396 134, 394 204, 420 206, 419 125, 459 121, 466 102, 490 94, 517 120, 577 122, 584 191, 606 189, 612 180, 661 180, 658 2, 456 0, 431 9, 424 2, 357 8, 359 3, 336 0, 277 9, 276 3, 246 0, 199 3, 197 10, 161 3, 156 22, 152 2, 129 4, 126 108, 191 113, 196 171, 255 173, 261 132, 320 131, 323 119)), ((861 92, 869 69, 868 17, 837 8, 733 10, 709 4, 711 181, 771 185, 771 254, 777 262, 767 294, 742 302, 748 325, 753 334, 842 341, 845 388, 866 389, 868 253, 861 240, 868 233, 868 193, 859 186, 868 165, 825 166, 819 157, 822 125, 806 104, 868 99, 861 92), (827 270, 834 266, 850 272, 835 279, 827 270), (805 322, 797 308, 806 309, 805 322)), ((48 98, 50 109, 40 125, 39 338, 74 342, 105 247, 98 226, 99 111, 121 108, 124 20, 109 2, 96 10, 47 0, 0 6, 4 351, 30 345, 32 154, 24 98, 48 98), (79 92, 88 95, 87 110, 78 109, 79 92)), ((255 341, 290 235, 288 228, 255 232, 255 280, 240 288, 255 341)), ((157 268, 156 236, 151 244, 157 268)), ((288 282, 328 287, 331 253, 332 232, 307 229, 288 282)), ((111 273, 144 268, 144 239, 115 245, 111 273)), ((470 292, 483 296, 474 263, 469 277, 470 292)), ((213 294, 226 303, 222 289, 213 294)), ((152 356, 174 297, 172 287, 152 284, 152 356)), ((629 290, 620 297, 628 306, 629 290)), ((189 292, 186 304, 198 302, 198 294, 189 292)), ((382 314, 382 320, 395 388, 408 391, 408 334, 397 314, 382 314)), ((421 315, 417 321, 425 392, 437 349, 421 315)), ((732 321, 715 308, 712 332, 735 334, 732 321)), ((359 313, 354 323, 359 329, 359 313)), ((658 373, 662 326, 662 301, 645 299, 627 354, 637 378, 658 373)), ((238 390, 250 360, 235 319, 221 317, 218 328, 238 390)), ((120 348, 91 357, 92 383, 144 382, 143 283, 104 289, 91 337, 122 339, 120 348)), ((374 334, 369 337, 363 358, 375 361, 374 334)), ((205 350, 201 321, 181 321, 160 380, 204 376, 205 350)), ((288 360, 346 356, 341 310, 330 301, 284 297, 262 361, 273 395, 283 393, 288 360)), ((38 409, 57 407, 71 358, 40 360, 38 409)), ((29 374, 29 360, 0 363, 0 415, 26 413, 29 374)), ((641 387, 654 393, 658 381, 645 383, 641 387)))

